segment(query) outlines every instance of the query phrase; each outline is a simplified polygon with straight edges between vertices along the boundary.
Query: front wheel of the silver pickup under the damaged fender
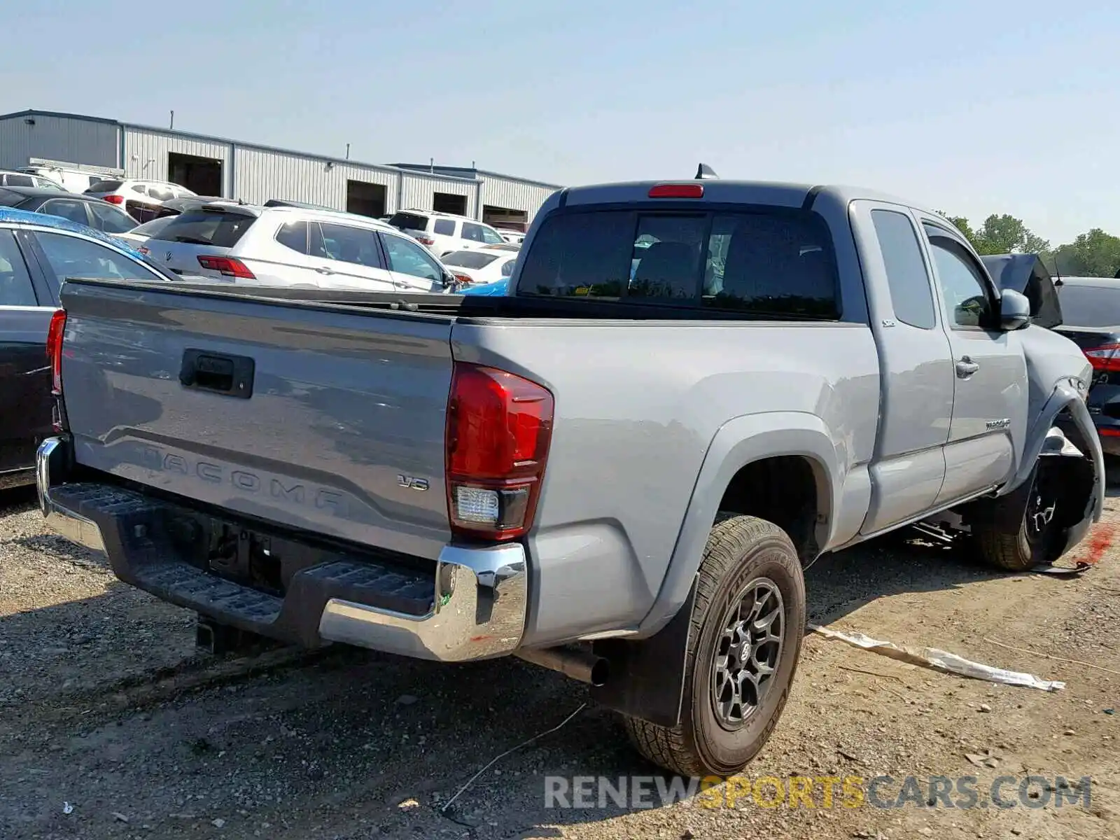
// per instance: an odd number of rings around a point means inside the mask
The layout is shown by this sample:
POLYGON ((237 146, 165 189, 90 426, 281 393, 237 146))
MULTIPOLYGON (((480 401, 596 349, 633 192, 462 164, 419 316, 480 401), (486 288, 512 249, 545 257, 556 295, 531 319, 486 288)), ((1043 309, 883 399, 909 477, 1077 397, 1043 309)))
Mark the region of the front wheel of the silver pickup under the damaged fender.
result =
MULTIPOLYGON (((1008 571, 1026 571, 1056 560, 1061 553, 1060 528, 1054 516, 1061 503, 1058 489, 1053 472, 1039 463, 1030 478, 1019 526, 1015 531, 996 524, 978 529, 977 543, 984 562, 1008 571)), ((1010 504, 1010 497, 1005 503, 1010 504)))

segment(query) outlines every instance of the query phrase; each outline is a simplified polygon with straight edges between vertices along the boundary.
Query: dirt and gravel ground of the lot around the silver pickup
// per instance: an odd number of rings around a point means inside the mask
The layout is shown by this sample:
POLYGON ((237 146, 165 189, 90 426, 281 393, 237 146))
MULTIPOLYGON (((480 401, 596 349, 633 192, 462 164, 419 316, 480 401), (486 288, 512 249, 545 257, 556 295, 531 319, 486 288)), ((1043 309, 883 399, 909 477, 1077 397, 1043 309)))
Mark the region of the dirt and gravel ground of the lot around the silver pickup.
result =
MULTIPOLYGON (((1120 500, 1108 504, 1098 548, 1120 524, 1120 500)), ((907 775, 923 787, 930 776, 974 775, 977 806, 847 808, 839 787, 833 808, 768 809, 750 795, 706 806, 722 787, 657 808, 607 799, 601 809, 545 809, 547 775, 654 774, 612 715, 589 706, 502 758, 444 814, 441 803, 492 757, 579 708, 582 688, 513 661, 198 655, 193 615, 119 584, 101 560, 47 535, 29 495, 9 494, 0 497, 0 838, 1120 837, 1112 548, 1066 579, 993 575, 952 550, 896 540, 825 558, 808 578, 813 620, 1067 687, 995 685, 810 635, 785 716, 749 775, 889 775, 880 802, 907 775), (1027 774, 1074 787, 1038 783, 1036 799, 1019 802, 1027 774), (1014 806, 984 808, 1000 775, 1016 776, 1002 788, 1014 806), (1056 805, 1058 793, 1076 803, 1056 805)))

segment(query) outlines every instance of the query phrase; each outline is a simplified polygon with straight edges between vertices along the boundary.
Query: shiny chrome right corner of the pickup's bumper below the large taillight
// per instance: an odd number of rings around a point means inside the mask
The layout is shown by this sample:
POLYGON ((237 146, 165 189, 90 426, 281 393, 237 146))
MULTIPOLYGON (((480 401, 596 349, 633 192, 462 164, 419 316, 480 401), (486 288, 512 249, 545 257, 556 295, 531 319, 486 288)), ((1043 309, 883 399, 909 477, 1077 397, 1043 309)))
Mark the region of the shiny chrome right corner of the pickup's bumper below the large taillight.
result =
POLYGON ((435 607, 424 616, 332 598, 319 635, 332 642, 439 662, 511 653, 525 628, 529 575, 519 543, 446 545, 436 568, 435 607))

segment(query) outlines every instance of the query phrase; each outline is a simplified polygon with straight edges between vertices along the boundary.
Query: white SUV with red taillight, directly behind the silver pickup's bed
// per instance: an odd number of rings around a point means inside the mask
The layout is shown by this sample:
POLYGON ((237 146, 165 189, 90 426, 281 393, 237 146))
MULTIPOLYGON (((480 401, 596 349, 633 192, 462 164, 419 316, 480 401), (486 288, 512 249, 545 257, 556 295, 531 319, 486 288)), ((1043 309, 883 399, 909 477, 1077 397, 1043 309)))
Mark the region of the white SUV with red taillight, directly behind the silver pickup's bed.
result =
POLYGON ((441 292, 455 278, 395 227, 351 213, 214 202, 140 251, 177 274, 255 286, 441 292))

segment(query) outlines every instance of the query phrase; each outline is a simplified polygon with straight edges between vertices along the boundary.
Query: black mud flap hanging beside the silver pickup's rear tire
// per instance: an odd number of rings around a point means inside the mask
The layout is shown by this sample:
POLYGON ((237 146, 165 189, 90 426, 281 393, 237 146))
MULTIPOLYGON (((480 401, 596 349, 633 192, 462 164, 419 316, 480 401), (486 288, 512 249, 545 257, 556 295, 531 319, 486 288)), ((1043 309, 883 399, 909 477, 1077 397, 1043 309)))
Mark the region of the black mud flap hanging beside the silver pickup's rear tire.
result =
POLYGON ((591 689, 591 699, 657 726, 674 727, 681 719, 684 694, 684 656, 692 627, 696 582, 669 624, 648 638, 605 638, 592 645, 610 663, 605 685, 591 689))

